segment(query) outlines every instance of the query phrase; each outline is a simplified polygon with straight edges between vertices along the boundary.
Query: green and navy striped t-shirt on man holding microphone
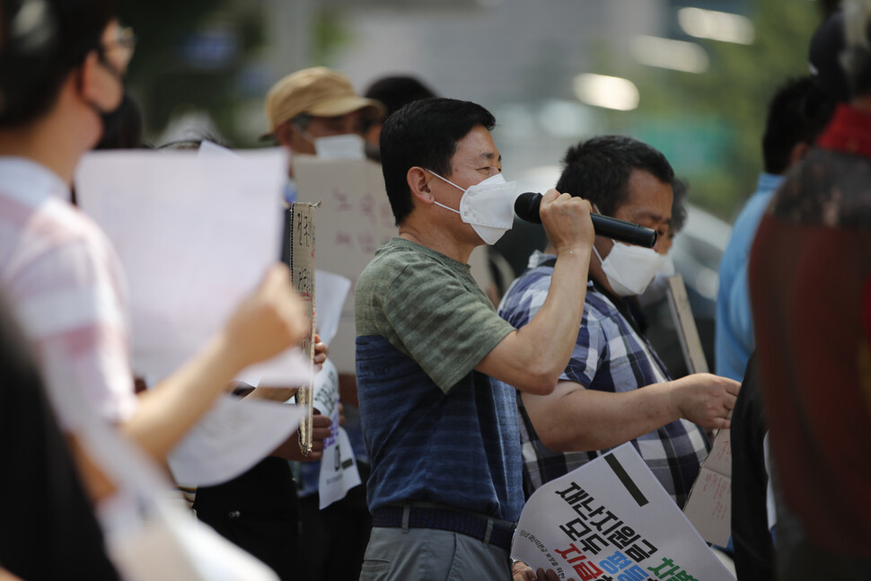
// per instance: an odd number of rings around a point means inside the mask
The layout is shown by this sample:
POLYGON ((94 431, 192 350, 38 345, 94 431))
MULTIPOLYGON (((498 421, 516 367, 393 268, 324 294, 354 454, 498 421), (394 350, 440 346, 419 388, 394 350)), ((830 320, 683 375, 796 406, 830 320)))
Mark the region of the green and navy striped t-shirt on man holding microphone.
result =
POLYGON ((369 510, 427 502, 515 522, 515 389, 474 371, 514 327, 470 268, 394 238, 357 282, 355 310, 369 510))

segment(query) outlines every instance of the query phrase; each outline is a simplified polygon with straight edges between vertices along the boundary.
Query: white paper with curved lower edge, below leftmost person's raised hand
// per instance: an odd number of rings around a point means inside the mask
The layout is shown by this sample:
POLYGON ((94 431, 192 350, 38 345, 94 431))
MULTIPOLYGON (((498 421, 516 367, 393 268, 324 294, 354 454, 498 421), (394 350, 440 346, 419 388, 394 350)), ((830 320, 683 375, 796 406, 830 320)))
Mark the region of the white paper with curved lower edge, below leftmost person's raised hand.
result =
POLYGON ((294 434, 304 415, 296 406, 224 395, 172 449, 172 474, 196 486, 233 479, 294 434))

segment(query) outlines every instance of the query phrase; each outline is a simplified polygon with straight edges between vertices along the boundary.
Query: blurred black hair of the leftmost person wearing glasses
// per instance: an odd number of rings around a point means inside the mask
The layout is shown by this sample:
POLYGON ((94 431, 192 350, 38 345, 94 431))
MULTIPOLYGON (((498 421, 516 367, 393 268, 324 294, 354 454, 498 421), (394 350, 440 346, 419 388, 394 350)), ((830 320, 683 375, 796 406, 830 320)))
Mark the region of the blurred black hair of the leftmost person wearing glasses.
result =
POLYGON ((0 0, 0 128, 47 113, 114 17, 111 0, 0 0))

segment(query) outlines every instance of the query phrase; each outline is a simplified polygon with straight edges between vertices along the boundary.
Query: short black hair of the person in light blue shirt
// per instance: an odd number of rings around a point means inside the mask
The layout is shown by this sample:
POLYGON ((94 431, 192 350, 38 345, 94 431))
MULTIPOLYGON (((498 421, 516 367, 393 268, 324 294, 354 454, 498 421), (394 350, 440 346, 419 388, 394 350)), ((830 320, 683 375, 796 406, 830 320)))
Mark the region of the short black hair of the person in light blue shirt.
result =
POLYGON ((762 136, 762 161, 766 172, 787 171, 793 147, 814 144, 834 110, 810 76, 790 79, 771 97, 765 134, 762 136))

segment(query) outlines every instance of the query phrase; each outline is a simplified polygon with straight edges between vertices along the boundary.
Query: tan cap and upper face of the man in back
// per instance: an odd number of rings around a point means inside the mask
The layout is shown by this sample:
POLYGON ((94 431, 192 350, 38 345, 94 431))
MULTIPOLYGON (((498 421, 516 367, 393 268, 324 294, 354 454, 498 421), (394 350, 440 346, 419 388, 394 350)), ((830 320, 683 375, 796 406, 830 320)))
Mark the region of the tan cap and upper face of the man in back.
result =
MULTIPOLYGON (((305 68, 269 89, 266 136, 293 154, 313 155, 319 139, 359 134, 361 121, 382 118, 385 112, 379 101, 356 94, 347 76, 324 66, 305 68)), ((291 165, 291 178, 293 172, 291 165)))

